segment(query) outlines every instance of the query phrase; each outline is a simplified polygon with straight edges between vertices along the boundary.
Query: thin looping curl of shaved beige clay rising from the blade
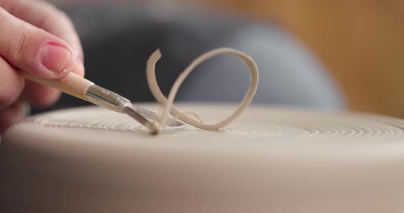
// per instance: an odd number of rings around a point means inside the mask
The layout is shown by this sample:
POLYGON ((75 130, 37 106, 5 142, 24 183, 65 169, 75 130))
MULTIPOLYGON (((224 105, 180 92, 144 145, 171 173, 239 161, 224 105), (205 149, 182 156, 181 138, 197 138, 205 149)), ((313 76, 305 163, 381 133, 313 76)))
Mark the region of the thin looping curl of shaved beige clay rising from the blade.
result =
POLYGON ((151 94, 153 94, 155 100, 162 104, 163 109, 160 111, 155 119, 154 125, 156 128, 164 128, 166 126, 165 121, 166 118, 168 117, 168 113, 171 113, 174 117, 177 119, 181 120, 182 122, 192 125, 197 128, 201 128, 203 130, 218 130, 220 128, 223 128, 227 125, 229 125, 231 122, 234 121, 241 113, 244 111, 244 109, 247 109, 249 104, 251 103, 251 100, 253 100, 255 96, 255 92, 257 91, 258 87, 258 68, 257 65, 255 64, 255 61, 246 55, 245 53, 242 53, 240 51, 236 51, 235 49, 232 48, 217 48, 212 51, 209 51, 207 53, 204 53, 203 55, 197 57, 190 65, 182 72, 179 74, 177 80, 173 84, 173 87, 171 88, 170 93, 168 94, 168 98, 164 96, 162 93, 160 87, 157 84, 157 79, 155 77, 155 63, 162 57, 160 50, 157 49, 149 60, 147 61, 147 68, 146 68, 146 75, 147 75, 147 83, 149 84, 149 88, 151 90, 151 94), (248 66, 250 72, 251 72, 251 85, 245 94, 242 102, 229 117, 224 119, 221 122, 218 122, 217 124, 203 124, 201 122, 201 119, 196 113, 192 113, 195 115, 199 121, 191 119, 190 117, 184 115, 184 113, 179 112, 177 109, 174 108, 173 102, 175 95, 177 94, 177 91, 181 84, 184 82, 188 74, 194 70, 197 66, 199 66, 200 63, 203 61, 206 61, 207 59, 210 59, 216 55, 224 55, 224 54, 229 54, 229 55, 235 55, 236 57, 239 57, 242 59, 242 61, 248 66))

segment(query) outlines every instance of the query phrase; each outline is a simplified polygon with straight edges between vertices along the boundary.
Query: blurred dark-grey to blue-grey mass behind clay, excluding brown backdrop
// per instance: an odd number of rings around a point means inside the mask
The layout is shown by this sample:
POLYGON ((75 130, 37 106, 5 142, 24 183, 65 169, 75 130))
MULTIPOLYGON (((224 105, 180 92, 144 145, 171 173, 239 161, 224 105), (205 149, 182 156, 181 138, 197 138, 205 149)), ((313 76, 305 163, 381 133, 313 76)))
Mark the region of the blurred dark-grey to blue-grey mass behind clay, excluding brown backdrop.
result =
MULTIPOLYGON (((81 36, 86 78, 129 100, 154 101, 145 67, 155 49, 160 48, 163 55, 156 66, 157 81, 167 94, 192 59, 227 46, 251 55, 260 68, 255 102, 344 109, 340 92, 324 68, 277 25, 191 8, 71 5, 62 9, 81 36)), ((217 57, 194 70, 176 100, 239 102, 248 80, 247 67, 239 59, 217 57)), ((53 108, 83 104, 64 95, 53 108)))

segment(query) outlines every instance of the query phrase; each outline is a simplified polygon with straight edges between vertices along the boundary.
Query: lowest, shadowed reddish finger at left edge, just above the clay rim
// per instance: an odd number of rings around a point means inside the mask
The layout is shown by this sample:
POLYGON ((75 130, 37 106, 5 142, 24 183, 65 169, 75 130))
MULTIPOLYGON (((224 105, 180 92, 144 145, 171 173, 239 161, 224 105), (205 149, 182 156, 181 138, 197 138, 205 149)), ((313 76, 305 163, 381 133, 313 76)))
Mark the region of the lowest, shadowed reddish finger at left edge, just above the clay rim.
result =
POLYGON ((0 110, 0 135, 12 124, 18 122, 25 115, 23 104, 15 103, 0 110))

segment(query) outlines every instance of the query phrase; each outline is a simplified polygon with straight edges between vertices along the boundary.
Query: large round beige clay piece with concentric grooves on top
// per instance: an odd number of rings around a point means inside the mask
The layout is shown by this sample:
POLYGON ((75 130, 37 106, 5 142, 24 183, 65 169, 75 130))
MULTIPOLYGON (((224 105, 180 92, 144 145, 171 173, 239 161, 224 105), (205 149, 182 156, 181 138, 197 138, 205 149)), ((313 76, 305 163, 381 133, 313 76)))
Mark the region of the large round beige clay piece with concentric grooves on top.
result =
MULTIPOLYGON (((213 123, 236 105, 177 107, 213 123)), ((404 211, 402 119, 251 106, 228 128, 153 137, 97 107, 30 117, 1 142, 0 212, 404 211)))

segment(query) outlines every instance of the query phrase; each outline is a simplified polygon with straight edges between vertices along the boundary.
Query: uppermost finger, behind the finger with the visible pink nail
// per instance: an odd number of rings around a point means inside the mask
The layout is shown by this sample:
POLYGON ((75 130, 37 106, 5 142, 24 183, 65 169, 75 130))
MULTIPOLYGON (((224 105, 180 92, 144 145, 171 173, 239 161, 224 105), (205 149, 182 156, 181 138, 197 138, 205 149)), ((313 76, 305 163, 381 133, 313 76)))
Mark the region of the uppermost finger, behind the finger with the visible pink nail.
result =
MULTIPOLYGON (((84 53, 79 35, 75 31, 71 19, 64 12, 45 1, 34 0, 10 1, 6 10, 17 18, 21 18, 27 23, 31 23, 31 25, 62 38, 75 51, 78 65, 83 66, 84 53)), ((73 72, 78 72, 77 74, 82 75, 84 73, 80 72, 83 70, 84 67, 73 72)))

